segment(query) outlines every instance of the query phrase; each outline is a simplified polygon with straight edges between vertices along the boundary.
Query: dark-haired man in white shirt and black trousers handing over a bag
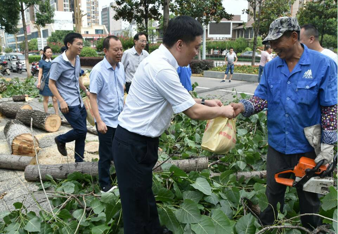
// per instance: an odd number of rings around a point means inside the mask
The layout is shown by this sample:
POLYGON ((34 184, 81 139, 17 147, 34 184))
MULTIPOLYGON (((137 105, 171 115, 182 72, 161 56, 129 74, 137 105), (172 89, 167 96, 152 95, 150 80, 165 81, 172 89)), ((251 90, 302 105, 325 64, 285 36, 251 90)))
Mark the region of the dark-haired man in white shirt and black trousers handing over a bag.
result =
POLYGON ((201 44, 197 20, 178 16, 169 21, 163 44, 136 71, 113 140, 124 234, 162 234, 152 191, 152 168, 158 160, 159 136, 174 113, 193 119, 234 116, 219 100, 193 99, 182 86, 179 66, 187 66, 201 44))

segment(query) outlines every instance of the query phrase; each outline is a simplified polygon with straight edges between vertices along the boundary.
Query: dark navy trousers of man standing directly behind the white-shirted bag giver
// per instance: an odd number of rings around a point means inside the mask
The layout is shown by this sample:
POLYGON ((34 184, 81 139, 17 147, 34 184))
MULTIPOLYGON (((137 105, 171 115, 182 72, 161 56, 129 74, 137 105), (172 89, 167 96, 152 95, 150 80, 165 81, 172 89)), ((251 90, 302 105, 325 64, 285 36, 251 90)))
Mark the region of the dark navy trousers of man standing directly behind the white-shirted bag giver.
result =
POLYGON ((110 178, 110 164, 113 160, 113 138, 116 128, 107 126, 107 132, 102 134, 98 131, 98 124, 95 123, 99 136, 99 184, 103 188, 112 183, 110 178))

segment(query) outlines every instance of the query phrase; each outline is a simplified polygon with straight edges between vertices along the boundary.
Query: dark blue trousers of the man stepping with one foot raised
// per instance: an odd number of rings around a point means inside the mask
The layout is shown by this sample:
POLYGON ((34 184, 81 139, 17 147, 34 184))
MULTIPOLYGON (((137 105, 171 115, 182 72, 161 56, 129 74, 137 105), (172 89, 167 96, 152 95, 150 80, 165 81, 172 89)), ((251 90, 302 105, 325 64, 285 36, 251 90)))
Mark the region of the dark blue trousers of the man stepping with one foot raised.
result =
MULTIPOLYGON (((60 109, 61 110, 61 109, 60 109)), ((68 106, 69 112, 62 115, 67 119, 72 130, 59 135, 58 140, 60 143, 68 143, 75 140, 75 162, 83 162, 84 154, 84 141, 87 135, 87 112, 84 105, 68 106)))

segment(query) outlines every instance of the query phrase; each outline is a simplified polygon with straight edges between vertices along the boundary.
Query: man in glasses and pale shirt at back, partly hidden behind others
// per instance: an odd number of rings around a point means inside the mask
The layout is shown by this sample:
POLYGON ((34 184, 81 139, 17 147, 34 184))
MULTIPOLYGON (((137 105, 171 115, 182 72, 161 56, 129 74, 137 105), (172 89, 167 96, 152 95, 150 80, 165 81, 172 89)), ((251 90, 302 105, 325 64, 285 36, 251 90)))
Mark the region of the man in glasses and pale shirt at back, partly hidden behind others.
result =
POLYGON ((144 50, 144 47, 148 44, 144 33, 137 33, 134 36, 134 43, 133 48, 124 51, 121 60, 124 65, 125 91, 127 94, 129 93, 129 88, 134 74, 139 67, 139 63, 149 55, 149 53, 144 50))

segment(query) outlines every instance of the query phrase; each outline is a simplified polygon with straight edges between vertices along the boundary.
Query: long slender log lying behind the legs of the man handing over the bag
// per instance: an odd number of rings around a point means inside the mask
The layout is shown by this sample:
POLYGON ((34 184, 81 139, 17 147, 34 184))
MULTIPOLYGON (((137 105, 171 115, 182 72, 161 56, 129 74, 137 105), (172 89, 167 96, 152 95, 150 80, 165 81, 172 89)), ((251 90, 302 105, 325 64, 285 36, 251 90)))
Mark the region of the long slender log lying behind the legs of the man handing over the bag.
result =
MULTIPOLYGON (((158 162, 154 168, 156 168, 161 162, 158 162)), ((172 160, 168 161, 173 165, 176 165, 185 172, 190 171, 201 171, 208 168, 208 158, 191 158, 183 160, 172 160)), ((114 165, 114 164, 112 164, 114 165)), ((155 171, 161 171, 161 167, 157 168, 155 171)), ((82 174, 90 174, 92 176, 97 176, 98 172, 98 162, 80 162, 80 163, 69 163, 69 164, 49 164, 42 165, 40 164, 40 172, 42 180, 47 180, 46 175, 49 174, 53 178, 57 179, 66 179, 67 176, 73 172, 80 172, 82 174)), ((27 181, 39 181, 39 170, 37 165, 28 165, 24 172, 25 179, 27 181)))

